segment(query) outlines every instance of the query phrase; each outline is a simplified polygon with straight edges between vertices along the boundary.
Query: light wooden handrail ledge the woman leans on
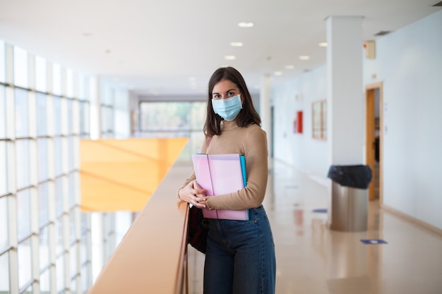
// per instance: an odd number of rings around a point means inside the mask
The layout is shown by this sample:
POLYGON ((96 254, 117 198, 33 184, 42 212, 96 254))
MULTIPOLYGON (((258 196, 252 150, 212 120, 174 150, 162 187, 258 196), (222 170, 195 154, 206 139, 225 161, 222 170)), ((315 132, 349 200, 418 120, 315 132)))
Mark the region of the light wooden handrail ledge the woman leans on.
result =
POLYGON ((88 294, 187 292, 189 205, 177 190, 190 171, 191 164, 172 166, 88 294))

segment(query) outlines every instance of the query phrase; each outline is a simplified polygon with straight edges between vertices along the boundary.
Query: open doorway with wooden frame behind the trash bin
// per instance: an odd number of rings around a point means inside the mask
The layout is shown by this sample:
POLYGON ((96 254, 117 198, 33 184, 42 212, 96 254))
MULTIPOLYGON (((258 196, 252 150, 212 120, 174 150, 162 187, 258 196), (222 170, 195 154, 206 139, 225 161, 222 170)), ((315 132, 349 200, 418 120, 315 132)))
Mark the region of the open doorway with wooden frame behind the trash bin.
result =
POLYGON ((369 186, 369 200, 383 203, 383 88, 382 82, 367 85, 366 97, 366 165, 373 180, 369 186))

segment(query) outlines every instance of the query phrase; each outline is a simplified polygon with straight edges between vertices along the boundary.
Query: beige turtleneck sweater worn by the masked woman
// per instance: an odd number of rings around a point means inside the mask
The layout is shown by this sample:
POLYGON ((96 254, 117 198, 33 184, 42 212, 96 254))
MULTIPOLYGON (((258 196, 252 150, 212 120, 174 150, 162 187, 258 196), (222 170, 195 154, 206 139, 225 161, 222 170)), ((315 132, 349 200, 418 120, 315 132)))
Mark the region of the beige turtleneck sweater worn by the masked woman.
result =
MULTIPOLYGON (((225 195, 208 197, 209 209, 242 210, 261 205, 268 179, 268 147, 264 130, 254 124, 240 128, 236 121, 223 121, 221 135, 213 136, 207 149, 204 141, 201 153, 238 153, 246 157, 246 188, 225 195)), ((195 178, 195 171, 192 171, 181 188, 195 178)))

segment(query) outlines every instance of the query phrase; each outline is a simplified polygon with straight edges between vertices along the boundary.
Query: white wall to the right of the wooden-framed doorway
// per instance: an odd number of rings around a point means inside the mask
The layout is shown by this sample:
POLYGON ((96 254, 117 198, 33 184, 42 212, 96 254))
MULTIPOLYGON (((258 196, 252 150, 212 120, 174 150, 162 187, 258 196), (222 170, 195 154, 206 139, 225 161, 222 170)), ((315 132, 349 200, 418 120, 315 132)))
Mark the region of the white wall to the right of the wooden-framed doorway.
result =
POLYGON ((442 11, 376 42, 364 83, 383 82, 383 202, 442 228, 442 11), (376 74, 376 80, 371 75, 376 74))

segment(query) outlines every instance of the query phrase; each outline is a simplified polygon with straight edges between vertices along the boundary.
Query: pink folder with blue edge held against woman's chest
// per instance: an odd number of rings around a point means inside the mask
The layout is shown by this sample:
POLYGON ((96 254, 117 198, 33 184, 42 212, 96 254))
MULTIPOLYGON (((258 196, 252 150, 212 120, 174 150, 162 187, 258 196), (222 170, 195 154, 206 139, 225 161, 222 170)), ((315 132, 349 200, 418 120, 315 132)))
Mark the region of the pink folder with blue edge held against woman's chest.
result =
MULTIPOLYGON (((244 157, 243 157, 244 159, 244 157)), ((207 190, 206 195, 216 196, 237 192, 244 188, 243 169, 245 162, 239 154, 193 154, 193 169, 196 181, 207 190)), ((249 210, 203 209, 203 215, 209 219, 249 220, 249 210)))

